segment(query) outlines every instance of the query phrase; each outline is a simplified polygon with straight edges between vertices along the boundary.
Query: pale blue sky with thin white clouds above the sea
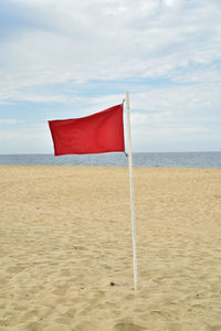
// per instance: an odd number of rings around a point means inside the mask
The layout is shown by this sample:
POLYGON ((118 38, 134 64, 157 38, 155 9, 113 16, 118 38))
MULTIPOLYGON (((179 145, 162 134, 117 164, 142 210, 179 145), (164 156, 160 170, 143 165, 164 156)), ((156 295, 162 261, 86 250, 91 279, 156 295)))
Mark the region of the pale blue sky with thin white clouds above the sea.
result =
POLYGON ((0 0, 0 153, 126 90, 133 151, 220 151, 221 1, 0 0))

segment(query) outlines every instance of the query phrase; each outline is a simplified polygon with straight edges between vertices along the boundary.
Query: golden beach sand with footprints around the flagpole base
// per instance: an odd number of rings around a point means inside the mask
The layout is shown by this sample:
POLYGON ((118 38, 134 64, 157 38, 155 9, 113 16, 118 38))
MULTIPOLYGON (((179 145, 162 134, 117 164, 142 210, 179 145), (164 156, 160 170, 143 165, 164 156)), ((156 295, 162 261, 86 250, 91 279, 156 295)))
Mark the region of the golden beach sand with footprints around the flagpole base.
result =
POLYGON ((0 331, 220 331, 221 169, 0 167, 0 331))

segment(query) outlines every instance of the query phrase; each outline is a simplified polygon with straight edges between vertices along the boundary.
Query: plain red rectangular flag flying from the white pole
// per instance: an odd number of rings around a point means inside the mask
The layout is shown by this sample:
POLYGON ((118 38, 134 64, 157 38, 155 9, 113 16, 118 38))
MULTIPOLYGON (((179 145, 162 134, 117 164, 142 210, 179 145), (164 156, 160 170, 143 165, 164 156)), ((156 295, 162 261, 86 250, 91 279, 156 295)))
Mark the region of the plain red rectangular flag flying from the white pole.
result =
POLYGON ((125 151, 123 105, 91 116, 49 120, 54 154, 90 154, 125 151))

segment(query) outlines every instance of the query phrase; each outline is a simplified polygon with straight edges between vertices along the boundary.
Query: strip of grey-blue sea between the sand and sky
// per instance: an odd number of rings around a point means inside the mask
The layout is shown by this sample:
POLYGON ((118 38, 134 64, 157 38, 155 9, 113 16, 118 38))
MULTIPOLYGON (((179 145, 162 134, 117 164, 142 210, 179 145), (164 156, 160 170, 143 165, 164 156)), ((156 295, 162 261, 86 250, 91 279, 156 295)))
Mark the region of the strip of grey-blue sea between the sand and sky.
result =
MULTIPOLYGON (((104 166, 127 167, 125 153, 61 156, 0 154, 0 164, 18 166, 104 166)), ((134 152, 134 167, 221 168, 221 151, 215 152, 134 152)))

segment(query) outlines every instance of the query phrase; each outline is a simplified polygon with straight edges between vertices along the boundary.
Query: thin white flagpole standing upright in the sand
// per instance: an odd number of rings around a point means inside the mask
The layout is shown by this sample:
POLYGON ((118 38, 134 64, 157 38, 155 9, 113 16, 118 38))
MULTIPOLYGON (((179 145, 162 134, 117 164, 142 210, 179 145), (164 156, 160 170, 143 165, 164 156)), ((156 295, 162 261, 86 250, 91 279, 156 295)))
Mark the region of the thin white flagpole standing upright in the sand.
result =
POLYGON ((133 231, 134 285, 135 285, 135 290, 137 290, 136 221, 135 221, 134 182, 133 182, 133 157, 131 157, 131 135, 130 135, 130 115, 129 115, 129 93, 128 93, 128 90, 126 92, 126 111, 127 111, 127 141, 128 141, 130 211, 131 211, 131 231, 133 231))

